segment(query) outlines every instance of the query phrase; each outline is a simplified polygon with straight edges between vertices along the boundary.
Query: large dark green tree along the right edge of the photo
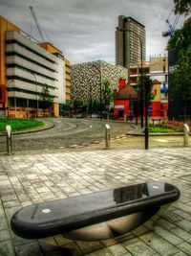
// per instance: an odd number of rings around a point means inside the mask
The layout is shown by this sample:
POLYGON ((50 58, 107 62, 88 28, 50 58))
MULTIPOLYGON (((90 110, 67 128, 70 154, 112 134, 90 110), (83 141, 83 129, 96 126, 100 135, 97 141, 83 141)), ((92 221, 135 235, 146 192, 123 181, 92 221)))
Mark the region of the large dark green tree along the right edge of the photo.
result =
MULTIPOLYGON (((175 12, 187 14, 191 12, 191 1, 175 0, 175 12)), ((191 18, 184 26, 176 30, 168 41, 168 50, 177 54, 174 71, 169 75, 171 81, 170 94, 175 103, 180 103, 184 120, 190 114, 191 105, 191 18)))

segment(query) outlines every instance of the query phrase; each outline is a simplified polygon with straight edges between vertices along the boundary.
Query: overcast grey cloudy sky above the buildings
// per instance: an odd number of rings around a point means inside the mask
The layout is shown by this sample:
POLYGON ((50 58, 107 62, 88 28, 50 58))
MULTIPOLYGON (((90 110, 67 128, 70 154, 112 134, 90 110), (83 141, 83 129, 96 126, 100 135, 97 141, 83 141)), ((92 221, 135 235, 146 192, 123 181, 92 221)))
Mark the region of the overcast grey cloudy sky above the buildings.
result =
MULTIPOLYGON (((165 19, 174 8, 173 0, 0 0, 0 15, 39 40, 30 6, 53 45, 73 63, 97 59, 115 63, 120 14, 132 16, 145 26, 147 59, 163 55, 167 38, 161 32, 168 29, 165 19)), ((170 22, 174 20, 172 14, 170 22)), ((180 17, 178 27, 182 22, 180 17)))

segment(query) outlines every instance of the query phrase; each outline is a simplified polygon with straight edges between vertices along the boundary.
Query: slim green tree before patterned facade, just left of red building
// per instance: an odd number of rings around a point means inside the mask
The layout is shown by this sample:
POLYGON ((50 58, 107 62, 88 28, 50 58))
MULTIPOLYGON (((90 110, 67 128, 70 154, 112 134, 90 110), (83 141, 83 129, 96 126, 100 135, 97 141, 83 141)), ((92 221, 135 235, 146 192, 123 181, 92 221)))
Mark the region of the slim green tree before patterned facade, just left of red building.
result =
POLYGON ((114 100, 114 93, 108 80, 103 81, 102 99, 103 110, 108 110, 114 100))

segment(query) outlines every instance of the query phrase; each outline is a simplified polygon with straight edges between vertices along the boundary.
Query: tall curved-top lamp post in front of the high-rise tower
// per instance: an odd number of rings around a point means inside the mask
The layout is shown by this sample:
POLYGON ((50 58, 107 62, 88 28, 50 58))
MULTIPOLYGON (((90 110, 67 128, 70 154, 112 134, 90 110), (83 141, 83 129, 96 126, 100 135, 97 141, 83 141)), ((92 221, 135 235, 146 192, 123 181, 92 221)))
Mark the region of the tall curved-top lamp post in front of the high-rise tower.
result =
POLYGON ((142 40, 140 39, 140 36, 138 35, 138 33, 133 30, 117 29, 117 31, 134 33, 135 35, 138 36, 138 40, 140 43, 140 68, 141 68, 141 73, 140 73, 140 127, 143 128, 143 71, 142 71, 143 49, 142 49, 142 40))

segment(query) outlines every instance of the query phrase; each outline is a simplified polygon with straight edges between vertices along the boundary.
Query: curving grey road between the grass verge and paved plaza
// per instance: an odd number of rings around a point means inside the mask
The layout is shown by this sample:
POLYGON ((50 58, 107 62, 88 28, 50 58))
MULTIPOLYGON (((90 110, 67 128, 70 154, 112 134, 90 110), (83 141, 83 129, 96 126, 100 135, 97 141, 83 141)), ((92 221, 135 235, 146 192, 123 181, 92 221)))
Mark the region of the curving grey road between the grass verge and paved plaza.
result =
MULTIPOLYGON (((46 119, 54 127, 26 134, 12 135, 12 151, 43 151, 87 145, 105 138, 105 124, 111 127, 111 137, 126 134, 131 130, 127 123, 85 119, 46 119)), ((0 152, 6 151, 6 137, 0 137, 0 152)))

